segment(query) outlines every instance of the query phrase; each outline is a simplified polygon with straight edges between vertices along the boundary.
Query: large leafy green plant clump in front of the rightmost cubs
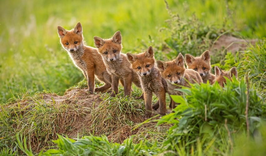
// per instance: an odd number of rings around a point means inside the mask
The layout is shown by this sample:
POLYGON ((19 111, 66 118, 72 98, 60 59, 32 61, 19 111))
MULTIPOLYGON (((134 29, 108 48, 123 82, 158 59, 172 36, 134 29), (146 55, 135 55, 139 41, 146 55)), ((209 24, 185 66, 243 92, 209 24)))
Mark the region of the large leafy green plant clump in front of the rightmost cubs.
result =
MULTIPOLYGON (((215 146, 221 153, 227 153, 231 135, 244 132, 247 129, 245 111, 247 104, 247 87, 244 80, 238 82, 227 80, 227 85, 220 88, 214 85, 195 84, 190 89, 180 89, 185 95, 172 95, 174 101, 181 103, 174 112, 163 116, 158 124, 173 123, 169 129, 164 145, 176 149, 176 145, 185 143, 186 151, 195 146, 200 138, 202 147, 207 147, 213 138, 215 146), (226 135, 226 134, 229 135, 226 135)), ((248 129, 252 134, 260 121, 265 119, 265 105, 254 88, 249 89, 248 99, 248 129)), ((248 134, 249 135, 249 134, 248 134)), ((231 141, 230 141, 231 140, 231 141)), ((212 146, 212 148, 213 148, 212 146)), ((210 148, 210 147, 209 147, 210 148)), ((233 146, 231 145, 231 148, 233 146)))

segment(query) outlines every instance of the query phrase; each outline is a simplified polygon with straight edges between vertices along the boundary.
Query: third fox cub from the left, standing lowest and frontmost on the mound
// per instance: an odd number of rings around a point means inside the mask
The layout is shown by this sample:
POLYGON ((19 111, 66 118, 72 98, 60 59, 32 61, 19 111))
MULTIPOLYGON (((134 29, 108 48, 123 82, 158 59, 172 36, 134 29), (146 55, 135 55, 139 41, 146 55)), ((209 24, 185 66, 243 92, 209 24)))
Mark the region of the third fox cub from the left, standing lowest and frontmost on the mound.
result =
POLYGON ((144 92, 145 115, 144 119, 151 117, 151 98, 152 92, 158 97, 160 114, 166 114, 165 93, 167 91, 167 83, 161 77, 161 73, 155 66, 153 49, 150 46, 146 52, 138 55, 127 53, 127 59, 131 63, 131 67, 138 73, 141 80, 141 87, 144 92))

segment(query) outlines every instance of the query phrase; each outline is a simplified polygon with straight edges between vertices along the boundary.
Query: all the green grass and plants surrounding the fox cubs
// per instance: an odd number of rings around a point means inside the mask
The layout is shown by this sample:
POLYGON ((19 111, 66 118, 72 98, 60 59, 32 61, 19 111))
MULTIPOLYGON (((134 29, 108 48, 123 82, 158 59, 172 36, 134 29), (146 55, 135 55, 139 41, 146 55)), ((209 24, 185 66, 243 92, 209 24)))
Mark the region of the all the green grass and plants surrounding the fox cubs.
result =
POLYGON ((2 2, 0 155, 265 155, 265 7, 263 0, 2 2), (86 82, 56 29, 77 22, 89 46, 93 36, 120 30, 124 52, 152 45, 161 60, 200 55, 223 34, 258 40, 212 53, 212 66, 236 66, 238 81, 183 88, 174 112, 143 122, 139 90, 82 104, 86 82))

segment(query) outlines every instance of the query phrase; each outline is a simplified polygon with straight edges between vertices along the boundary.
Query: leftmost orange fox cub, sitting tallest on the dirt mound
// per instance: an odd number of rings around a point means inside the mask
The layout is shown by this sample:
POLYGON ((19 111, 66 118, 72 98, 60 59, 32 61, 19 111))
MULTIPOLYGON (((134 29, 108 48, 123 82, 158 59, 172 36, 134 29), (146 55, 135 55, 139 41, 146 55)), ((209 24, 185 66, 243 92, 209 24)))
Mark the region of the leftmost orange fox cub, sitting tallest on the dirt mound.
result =
POLYGON ((106 71, 102 57, 97 49, 85 46, 82 35, 82 27, 78 22, 76 27, 70 31, 58 26, 58 35, 63 48, 68 52, 75 66, 77 66, 88 81, 89 91, 104 91, 111 87, 111 76, 106 71), (105 83, 105 85, 95 88, 94 75, 105 83))

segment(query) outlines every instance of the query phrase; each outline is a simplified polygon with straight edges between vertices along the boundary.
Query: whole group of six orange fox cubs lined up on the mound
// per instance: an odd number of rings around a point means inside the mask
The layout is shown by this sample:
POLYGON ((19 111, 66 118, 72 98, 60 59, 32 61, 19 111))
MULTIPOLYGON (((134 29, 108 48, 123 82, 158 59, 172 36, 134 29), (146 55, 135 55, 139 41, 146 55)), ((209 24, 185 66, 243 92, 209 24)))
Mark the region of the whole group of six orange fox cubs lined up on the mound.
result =
MULTIPOLYGON (((145 52, 137 55, 121 53, 122 37, 120 32, 115 32, 109 39, 94 37, 97 48, 84 45, 82 26, 79 23, 74 29, 68 31, 58 26, 58 34, 63 48, 68 51, 73 60, 88 81, 89 92, 105 91, 111 88, 111 96, 118 93, 119 81, 124 86, 124 95, 130 95, 132 82, 142 89, 139 99, 145 100, 146 112, 144 119, 150 118, 152 108, 160 108, 160 114, 166 114, 166 93, 169 95, 181 95, 178 88, 189 87, 189 83, 213 84, 215 81, 223 86, 224 77, 231 79, 237 77, 236 67, 230 71, 222 71, 215 66, 215 75, 210 73, 209 51, 202 53, 200 57, 189 54, 184 56, 179 53, 172 61, 156 61, 154 52, 150 46, 145 52), (185 68, 185 62, 187 69, 185 68), (105 84, 94 88, 94 76, 105 84), (152 93, 158 97, 156 104, 152 106, 152 93)), ((175 108, 176 103, 171 99, 170 109, 175 108)))

